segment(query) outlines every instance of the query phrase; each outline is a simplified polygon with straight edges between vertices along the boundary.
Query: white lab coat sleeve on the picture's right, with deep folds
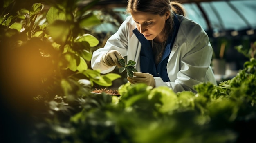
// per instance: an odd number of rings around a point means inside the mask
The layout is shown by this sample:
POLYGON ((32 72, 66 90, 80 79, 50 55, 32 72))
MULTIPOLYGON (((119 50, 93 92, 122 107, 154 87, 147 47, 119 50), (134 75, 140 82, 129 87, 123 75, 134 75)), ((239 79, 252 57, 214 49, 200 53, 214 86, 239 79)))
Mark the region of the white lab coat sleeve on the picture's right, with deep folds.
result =
POLYGON ((176 65, 180 68, 177 79, 173 82, 163 82, 161 78, 154 77, 156 87, 169 86, 174 92, 196 92, 193 86, 205 82, 207 74, 212 74, 211 69, 209 70, 212 47, 207 34, 197 24, 187 25, 185 29, 179 29, 179 32, 184 35, 184 41, 179 42, 180 49, 177 50, 179 58, 176 65))

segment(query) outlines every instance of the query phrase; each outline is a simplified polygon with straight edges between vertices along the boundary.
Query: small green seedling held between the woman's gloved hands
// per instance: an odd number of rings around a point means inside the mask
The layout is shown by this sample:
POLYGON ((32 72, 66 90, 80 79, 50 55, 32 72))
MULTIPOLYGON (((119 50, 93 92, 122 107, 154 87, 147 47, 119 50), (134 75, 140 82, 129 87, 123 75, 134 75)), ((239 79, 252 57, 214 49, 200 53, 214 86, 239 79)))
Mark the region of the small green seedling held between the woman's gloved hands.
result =
POLYGON ((136 68, 135 68, 135 64, 136 62, 130 60, 128 61, 128 63, 126 64, 124 59, 118 59, 118 62, 122 65, 121 68, 119 68, 119 73, 122 73, 124 70, 126 70, 126 72, 128 73, 129 77, 133 77, 133 72, 137 72, 136 68))

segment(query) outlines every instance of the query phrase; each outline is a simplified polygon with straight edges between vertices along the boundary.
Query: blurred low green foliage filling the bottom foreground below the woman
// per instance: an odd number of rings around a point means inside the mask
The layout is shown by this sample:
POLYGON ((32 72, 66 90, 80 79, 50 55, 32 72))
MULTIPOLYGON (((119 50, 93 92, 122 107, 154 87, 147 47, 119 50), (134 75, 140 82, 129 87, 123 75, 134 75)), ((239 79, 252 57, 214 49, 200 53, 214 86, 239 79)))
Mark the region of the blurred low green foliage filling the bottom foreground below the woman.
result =
POLYGON ((231 80, 218 86, 196 85, 197 94, 124 84, 119 87, 120 97, 102 94, 79 98, 82 110, 70 116, 69 106, 51 104, 51 116, 37 125, 34 137, 36 142, 65 143, 252 142, 256 132, 255 88, 254 58, 231 80))

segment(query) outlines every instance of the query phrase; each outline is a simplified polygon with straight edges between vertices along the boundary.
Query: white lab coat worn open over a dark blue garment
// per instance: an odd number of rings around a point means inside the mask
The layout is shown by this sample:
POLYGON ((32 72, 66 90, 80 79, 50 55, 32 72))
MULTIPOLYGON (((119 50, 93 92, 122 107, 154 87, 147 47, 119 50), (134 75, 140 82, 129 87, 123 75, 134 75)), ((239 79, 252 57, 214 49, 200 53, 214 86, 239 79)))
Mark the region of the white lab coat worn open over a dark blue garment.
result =
MULTIPOLYGON (((168 86, 174 92, 193 91, 193 86, 202 82, 216 84, 211 69, 212 47, 205 31, 196 22, 182 15, 177 15, 180 28, 167 63, 167 72, 170 82, 164 82, 160 77, 154 77, 155 86, 168 86)), ((131 16, 121 24, 118 31, 112 35, 104 48, 99 48, 92 55, 91 65, 94 70, 109 73, 115 66, 102 64, 101 57, 109 50, 118 50, 127 61, 133 60, 140 71, 141 43, 132 32, 136 28, 131 16)), ((126 61, 126 63, 127 63, 126 61)), ((152 63, 145 63, 152 64, 152 63)))

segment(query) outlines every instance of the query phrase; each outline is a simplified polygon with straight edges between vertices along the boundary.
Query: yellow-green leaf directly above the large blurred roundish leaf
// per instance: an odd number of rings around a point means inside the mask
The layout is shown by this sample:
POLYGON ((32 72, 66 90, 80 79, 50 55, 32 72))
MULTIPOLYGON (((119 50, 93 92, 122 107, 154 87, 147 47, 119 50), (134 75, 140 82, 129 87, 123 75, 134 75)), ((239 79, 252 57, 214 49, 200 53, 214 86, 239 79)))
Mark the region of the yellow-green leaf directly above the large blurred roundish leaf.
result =
POLYGON ((46 20, 48 24, 52 24, 55 20, 66 20, 66 15, 64 11, 60 11, 56 7, 51 7, 47 14, 46 14, 46 20))

